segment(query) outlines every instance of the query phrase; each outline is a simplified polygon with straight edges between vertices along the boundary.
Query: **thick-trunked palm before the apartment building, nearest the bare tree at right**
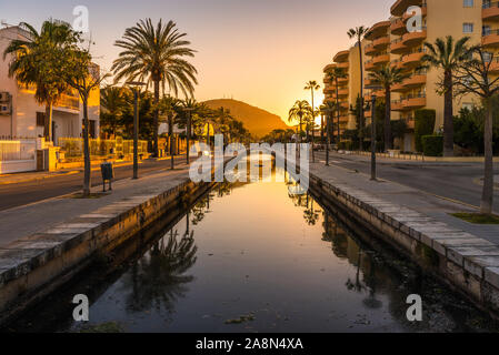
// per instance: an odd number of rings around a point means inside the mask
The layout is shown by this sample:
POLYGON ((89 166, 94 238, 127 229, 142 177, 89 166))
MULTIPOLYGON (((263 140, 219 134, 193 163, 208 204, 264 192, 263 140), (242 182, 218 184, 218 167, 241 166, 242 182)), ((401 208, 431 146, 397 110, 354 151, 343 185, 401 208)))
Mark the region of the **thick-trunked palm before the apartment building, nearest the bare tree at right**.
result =
POLYGON ((439 83, 440 94, 443 94, 443 155, 453 156, 453 71, 467 58, 469 37, 455 41, 451 36, 438 38, 435 44, 425 42, 428 53, 421 58, 423 63, 443 71, 443 79, 439 83))

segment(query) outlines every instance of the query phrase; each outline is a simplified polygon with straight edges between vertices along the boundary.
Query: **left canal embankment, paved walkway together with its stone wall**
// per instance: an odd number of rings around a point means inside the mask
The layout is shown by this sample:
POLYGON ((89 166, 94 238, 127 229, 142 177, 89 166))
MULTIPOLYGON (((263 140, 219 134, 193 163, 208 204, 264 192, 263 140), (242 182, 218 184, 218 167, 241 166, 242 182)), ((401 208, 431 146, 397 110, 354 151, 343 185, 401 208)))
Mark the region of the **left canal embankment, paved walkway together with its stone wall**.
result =
POLYGON ((93 199, 70 194, 0 212, 0 323, 158 219, 180 213, 212 185, 193 183, 189 166, 179 164, 174 171, 119 181, 112 192, 93 199))

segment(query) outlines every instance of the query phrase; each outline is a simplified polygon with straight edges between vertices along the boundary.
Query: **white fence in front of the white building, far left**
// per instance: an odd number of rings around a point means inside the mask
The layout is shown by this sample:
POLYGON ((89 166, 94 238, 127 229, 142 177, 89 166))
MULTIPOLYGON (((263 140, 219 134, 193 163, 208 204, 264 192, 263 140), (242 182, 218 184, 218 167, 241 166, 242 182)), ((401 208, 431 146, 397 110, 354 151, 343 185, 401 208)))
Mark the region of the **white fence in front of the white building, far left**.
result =
POLYGON ((37 139, 0 141, 0 173, 37 170, 37 139))

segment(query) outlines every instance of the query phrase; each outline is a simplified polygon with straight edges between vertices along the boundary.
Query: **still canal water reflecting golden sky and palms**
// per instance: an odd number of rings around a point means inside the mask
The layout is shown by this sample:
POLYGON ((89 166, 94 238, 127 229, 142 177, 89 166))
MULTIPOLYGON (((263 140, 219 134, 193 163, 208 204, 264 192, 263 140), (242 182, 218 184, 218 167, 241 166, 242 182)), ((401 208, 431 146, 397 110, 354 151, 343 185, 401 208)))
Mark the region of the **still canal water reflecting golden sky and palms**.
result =
MULTIPOLYGON (((496 325, 286 183, 223 183, 110 273, 93 272, 8 331, 461 332, 496 325), (86 278, 88 277, 88 278, 86 278), (90 322, 72 320, 89 294, 90 322), (406 300, 423 298, 410 323, 406 300)), ((102 266, 106 268, 106 266, 102 266)))

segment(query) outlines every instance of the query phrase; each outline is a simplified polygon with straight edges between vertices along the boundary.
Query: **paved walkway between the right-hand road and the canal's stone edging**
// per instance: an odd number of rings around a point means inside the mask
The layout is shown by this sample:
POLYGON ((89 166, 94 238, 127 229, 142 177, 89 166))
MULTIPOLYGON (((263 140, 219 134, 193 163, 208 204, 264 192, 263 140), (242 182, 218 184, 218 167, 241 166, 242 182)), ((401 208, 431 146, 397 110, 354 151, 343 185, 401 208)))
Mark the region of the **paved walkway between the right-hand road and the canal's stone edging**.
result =
POLYGON ((359 192, 417 211, 438 222, 446 223, 450 227, 468 232, 499 245, 499 225, 471 224, 450 215, 457 212, 477 212, 469 205, 441 199, 425 191, 387 180, 373 182, 370 181, 369 175, 338 166, 335 162, 330 166, 325 166, 323 163, 310 163, 310 172, 332 185, 350 186, 359 192))

